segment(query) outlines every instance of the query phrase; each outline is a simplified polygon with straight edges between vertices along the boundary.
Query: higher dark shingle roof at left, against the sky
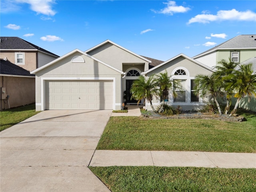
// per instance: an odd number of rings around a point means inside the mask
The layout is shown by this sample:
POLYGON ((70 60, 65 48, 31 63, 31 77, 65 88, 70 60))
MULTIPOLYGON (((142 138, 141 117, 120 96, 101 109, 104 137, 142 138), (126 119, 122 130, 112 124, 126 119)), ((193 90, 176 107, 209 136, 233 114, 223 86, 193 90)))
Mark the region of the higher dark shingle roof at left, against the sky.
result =
POLYGON ((0 49, 12 49, 12 50, 20 50, 20 49, 30 49, 30 50, 40 50, 42 52, 46 52, 48 54, 59 57, 58 55, 47 51, 39 46, 36 46, 26 40, 23 40, 19 37, 0 37, 0 49))

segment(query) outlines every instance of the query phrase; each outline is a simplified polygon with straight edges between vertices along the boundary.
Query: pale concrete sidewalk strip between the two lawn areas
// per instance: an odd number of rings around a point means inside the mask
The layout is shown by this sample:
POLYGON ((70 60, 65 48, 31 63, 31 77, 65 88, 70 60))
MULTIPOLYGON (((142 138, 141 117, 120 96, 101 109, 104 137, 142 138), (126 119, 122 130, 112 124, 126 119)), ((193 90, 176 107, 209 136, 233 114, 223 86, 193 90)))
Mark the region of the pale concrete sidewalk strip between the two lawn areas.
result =
POLYGON ((256 168, 256 153, 96 150, 89 166, 256 168))

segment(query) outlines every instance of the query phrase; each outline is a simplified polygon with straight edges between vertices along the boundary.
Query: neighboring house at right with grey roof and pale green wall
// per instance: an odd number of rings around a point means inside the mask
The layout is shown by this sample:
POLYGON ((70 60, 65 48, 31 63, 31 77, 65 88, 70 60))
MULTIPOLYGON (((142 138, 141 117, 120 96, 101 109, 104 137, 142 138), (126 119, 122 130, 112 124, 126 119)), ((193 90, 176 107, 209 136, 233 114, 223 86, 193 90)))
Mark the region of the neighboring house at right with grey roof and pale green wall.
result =
POLYGON ((256 35, 239 35, 192 58, 214 68, 222 59, 242 63, 253 57, 256 57, 256 35))

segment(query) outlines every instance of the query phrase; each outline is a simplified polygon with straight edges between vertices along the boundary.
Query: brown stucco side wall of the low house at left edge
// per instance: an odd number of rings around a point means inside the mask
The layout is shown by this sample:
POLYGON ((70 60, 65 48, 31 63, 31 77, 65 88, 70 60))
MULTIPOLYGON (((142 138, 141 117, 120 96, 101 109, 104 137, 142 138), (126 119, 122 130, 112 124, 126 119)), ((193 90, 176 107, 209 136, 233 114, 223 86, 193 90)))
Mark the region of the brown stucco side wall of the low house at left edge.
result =
MULTIPOLYGON (((10 108, 35 102, 35 78, 0 76, 0 85, 6 88, 6 95, 10 96, 10 108)), ((1 100, 1 106, 2 109, 9 108, 4 100, 1 100)))

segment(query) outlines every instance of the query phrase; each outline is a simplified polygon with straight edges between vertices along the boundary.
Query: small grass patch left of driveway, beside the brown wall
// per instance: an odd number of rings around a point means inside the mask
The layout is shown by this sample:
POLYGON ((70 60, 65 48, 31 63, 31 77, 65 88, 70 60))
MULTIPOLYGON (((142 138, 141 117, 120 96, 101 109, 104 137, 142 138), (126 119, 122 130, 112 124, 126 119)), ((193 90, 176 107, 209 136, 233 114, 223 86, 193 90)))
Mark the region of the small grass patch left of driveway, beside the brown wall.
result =
POLYGON ((0 131, 5 130, 37 113, 39 112, 36 111, 35 104, 3 110, 0 112, 0 131))

